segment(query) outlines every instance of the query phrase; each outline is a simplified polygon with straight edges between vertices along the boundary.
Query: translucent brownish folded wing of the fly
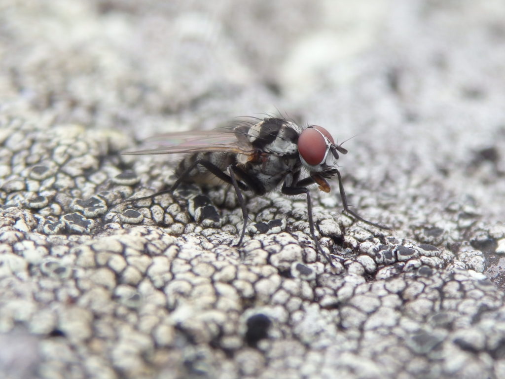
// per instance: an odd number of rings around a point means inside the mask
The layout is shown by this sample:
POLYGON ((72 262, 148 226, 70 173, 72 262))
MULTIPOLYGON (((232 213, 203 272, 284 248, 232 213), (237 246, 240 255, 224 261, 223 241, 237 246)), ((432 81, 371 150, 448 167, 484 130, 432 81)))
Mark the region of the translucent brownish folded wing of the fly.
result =
POLYGON ((125 155, 177 154, 204 152, 232 152, 251 155, 251 144, 237 136, 234 130, 183 131, 160 134, 146 140, 157 147, 153 149, 126 151, 125 155))

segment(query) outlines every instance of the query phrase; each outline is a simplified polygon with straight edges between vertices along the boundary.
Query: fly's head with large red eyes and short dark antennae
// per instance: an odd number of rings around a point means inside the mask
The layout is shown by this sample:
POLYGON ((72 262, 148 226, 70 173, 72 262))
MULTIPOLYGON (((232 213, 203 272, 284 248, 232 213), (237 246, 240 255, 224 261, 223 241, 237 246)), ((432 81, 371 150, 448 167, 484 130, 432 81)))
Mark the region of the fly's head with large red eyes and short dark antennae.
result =
POLYGON ((338 153, 347 154, 347 150, 335 145, 328 130, 312 125, 300 133, 298 153, 301 163, 311 174, 330 178, 335 175, 338 167, 338 153))

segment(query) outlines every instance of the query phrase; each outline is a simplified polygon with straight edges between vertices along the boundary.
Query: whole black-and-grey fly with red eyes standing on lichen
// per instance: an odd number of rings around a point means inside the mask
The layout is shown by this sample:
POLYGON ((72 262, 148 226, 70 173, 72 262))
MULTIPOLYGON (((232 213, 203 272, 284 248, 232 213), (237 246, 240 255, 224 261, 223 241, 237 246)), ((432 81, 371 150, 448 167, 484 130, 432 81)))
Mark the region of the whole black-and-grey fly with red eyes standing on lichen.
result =
MULTIPOLYGON (((284 195, 307 196, 309 228, 317 250, 333 266, 321 248, 314 232, 312 202, 308 186, 318 184, 330 192, 327 179, 338 178, 340 198, 345 212, 367 224, 370 222, 349 208, 342 177, 337 167, 338 153, 347 154, 336 145, 323 127, 300 127, 284 118, 268 117, 241 121, 236 125, 212 131, 174 132, 156 136, 159 147, 125 152, 127 155, 185 153, 175 174, 178 177, 170 189, 129 202, 150 199, 172 193, 182 182, 212 183, 214 179, 229 183, 235 189, 244 219, 238 245, 244 238, 248 213, 241 191, 263 196, 280 187, 284 195)), ((214 180, 215 181, 215 180, 214 180)))

